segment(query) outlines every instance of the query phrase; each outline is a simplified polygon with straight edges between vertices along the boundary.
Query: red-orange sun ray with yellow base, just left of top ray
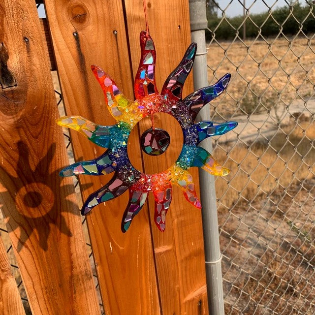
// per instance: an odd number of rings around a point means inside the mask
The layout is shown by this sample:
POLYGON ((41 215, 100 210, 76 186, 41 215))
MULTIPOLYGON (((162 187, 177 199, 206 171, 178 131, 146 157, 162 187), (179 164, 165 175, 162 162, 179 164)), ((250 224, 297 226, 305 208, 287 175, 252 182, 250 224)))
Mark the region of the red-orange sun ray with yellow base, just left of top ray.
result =
POLYGON ((119 121, 119 117, 123 115, 126 108, 132 104, 130 100, 123 95, 116 86, 116 83, 111 77, 106 74, 99 66, 92 65, 92 71, 98 83, 104 92, 105 101, 108 109, 113 117, 119 121))

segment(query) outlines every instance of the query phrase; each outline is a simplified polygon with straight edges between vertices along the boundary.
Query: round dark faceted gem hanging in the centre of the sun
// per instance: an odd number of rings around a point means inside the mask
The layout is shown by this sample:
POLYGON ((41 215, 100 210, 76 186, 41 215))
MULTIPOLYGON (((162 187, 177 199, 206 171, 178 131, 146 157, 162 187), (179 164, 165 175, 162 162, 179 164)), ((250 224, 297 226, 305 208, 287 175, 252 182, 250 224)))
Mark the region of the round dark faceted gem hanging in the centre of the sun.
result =
POLYGON ((166 130, 150 128, 142 133, 141 148, 150 156, 163 154, 169 146, 170 136, 166 130))

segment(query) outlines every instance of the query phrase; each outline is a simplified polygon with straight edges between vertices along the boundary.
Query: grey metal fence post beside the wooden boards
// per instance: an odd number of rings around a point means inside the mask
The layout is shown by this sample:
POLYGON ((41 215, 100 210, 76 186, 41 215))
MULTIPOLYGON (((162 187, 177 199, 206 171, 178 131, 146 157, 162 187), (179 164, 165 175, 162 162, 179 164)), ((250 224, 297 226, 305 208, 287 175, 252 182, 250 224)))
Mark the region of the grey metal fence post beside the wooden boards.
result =
MULTIPOLYGON (((205 38, 205 29, 208 25, 206 1, 189 0, 189 14, 191 41, 196 42, 198 45, 193 65, 193 84, 196 90, 208 85, 205 38)), ((210 120, 209 108, 201 110, 198 117, 199 120, 210 120)), ((202 146, 207 151, 212 152, 211 141, 205 141, 202 146)), ((199 178, 209 313, 210 315, 224 315, 221 252, 214 177, 200 170, 199 178)))

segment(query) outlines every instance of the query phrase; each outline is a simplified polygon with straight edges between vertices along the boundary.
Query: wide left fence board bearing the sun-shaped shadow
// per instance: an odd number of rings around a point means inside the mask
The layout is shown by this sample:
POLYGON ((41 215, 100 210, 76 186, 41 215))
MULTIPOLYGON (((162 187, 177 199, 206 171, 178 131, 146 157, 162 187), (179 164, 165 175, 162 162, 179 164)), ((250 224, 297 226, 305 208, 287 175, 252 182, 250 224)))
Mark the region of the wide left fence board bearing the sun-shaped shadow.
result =
POLYGON ((0 204, 32 313, 98 315, 33 0, 0 3, 0 83, 0 204))

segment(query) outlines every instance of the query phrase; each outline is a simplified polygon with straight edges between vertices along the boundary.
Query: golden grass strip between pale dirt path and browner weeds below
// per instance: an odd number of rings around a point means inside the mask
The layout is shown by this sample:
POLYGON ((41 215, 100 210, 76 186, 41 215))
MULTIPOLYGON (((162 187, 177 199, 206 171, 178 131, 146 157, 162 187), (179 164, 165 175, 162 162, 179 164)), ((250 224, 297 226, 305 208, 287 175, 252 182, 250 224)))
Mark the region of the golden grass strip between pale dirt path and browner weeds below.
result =
POLYGON ((315 122, 293 120, 284 125, 270 140, 240 144, 232 149, 218 145, 217 160, 228 159, 224 166, 231 169, 226 190, 226 179, 216 180, 217 197, 227 207, 243 199, 251 202, 257 194, 268 194, 278 187, 286 188, 294 182, 314 176, 315 122), (249 178, 250 175, 250 178, 249 178), (240 194, 241 193, 241 194, 240 194))

